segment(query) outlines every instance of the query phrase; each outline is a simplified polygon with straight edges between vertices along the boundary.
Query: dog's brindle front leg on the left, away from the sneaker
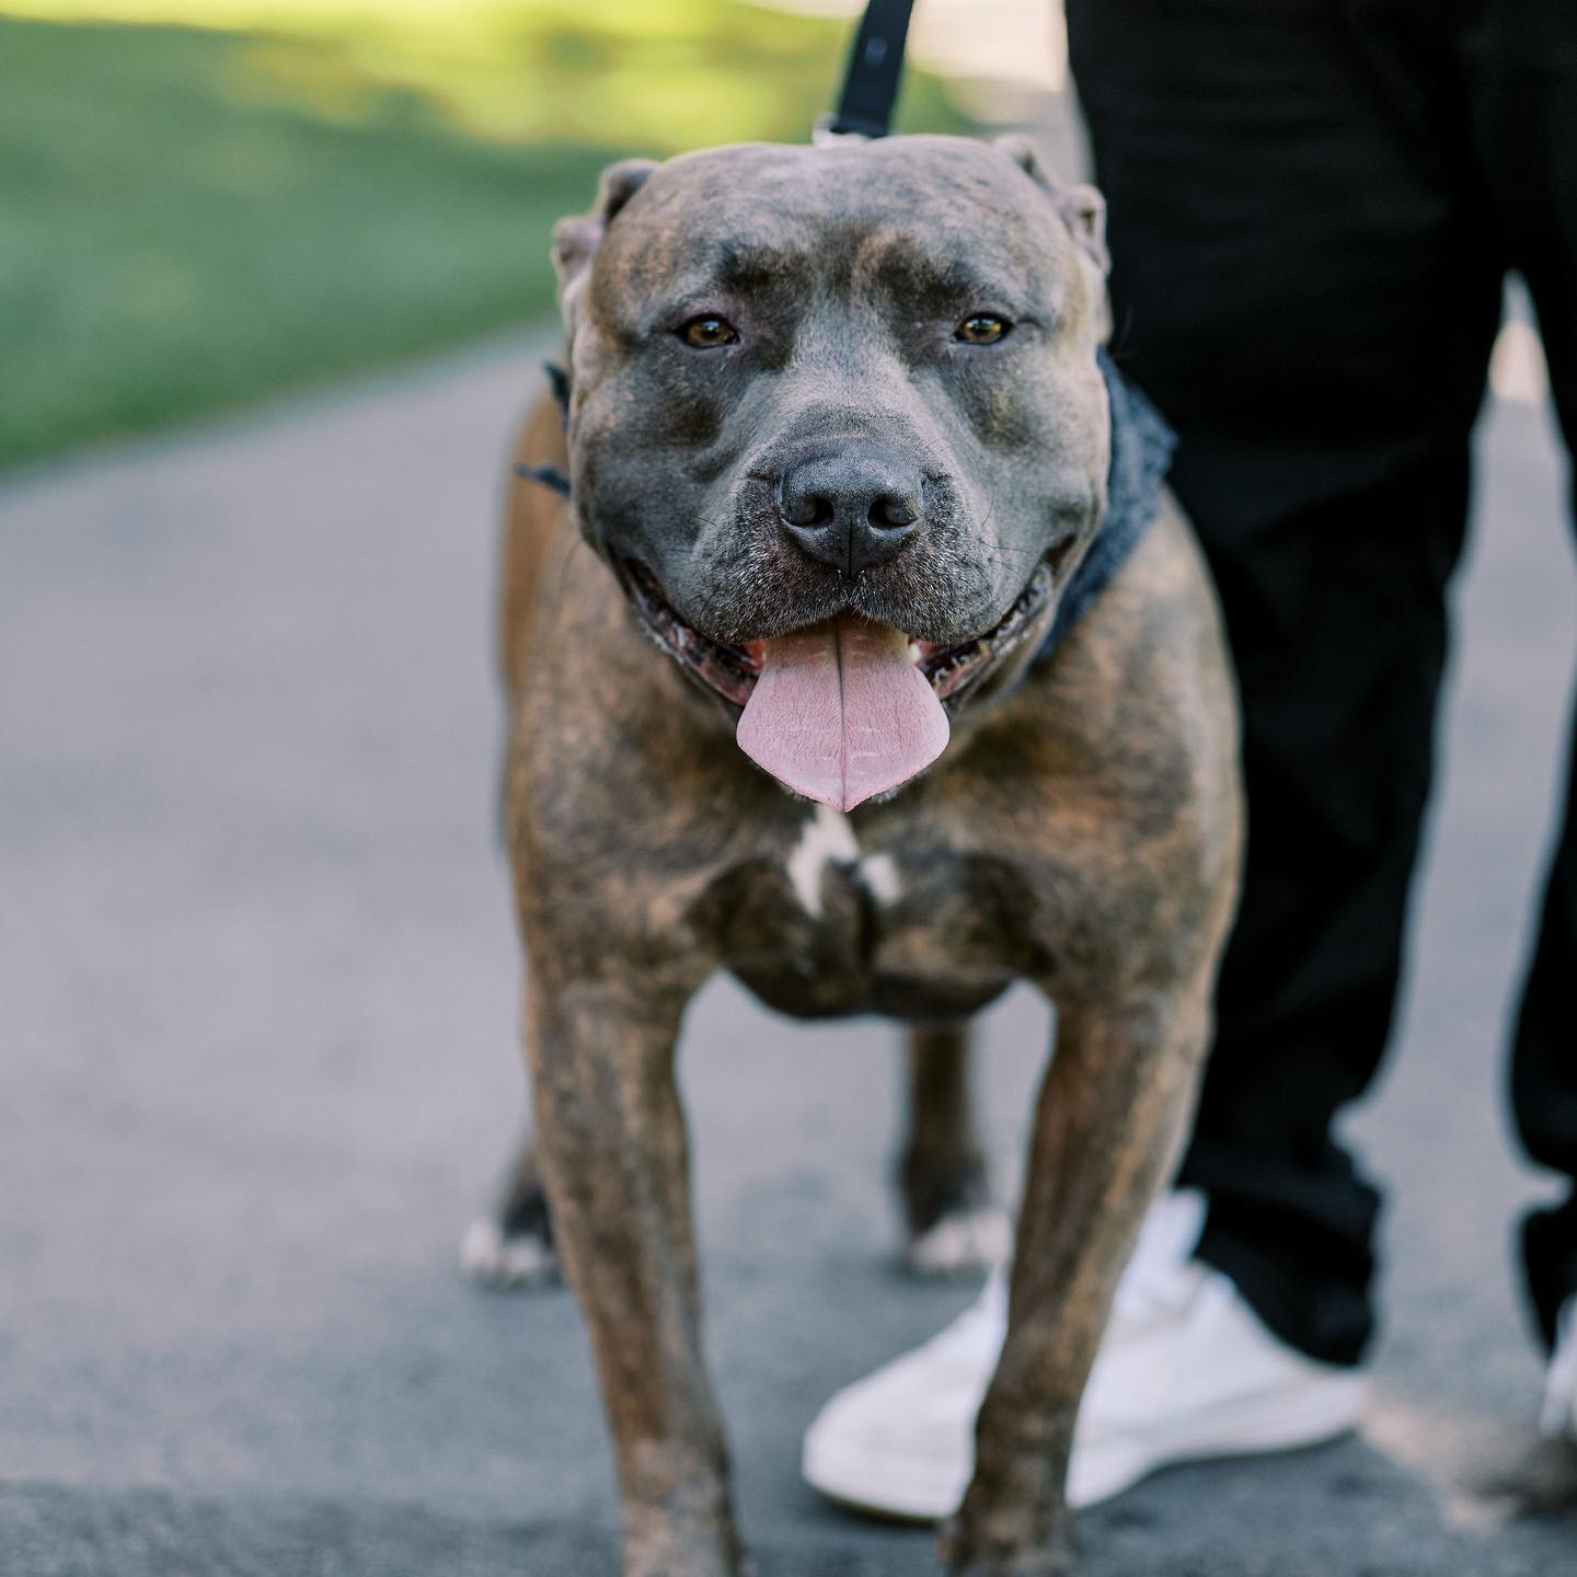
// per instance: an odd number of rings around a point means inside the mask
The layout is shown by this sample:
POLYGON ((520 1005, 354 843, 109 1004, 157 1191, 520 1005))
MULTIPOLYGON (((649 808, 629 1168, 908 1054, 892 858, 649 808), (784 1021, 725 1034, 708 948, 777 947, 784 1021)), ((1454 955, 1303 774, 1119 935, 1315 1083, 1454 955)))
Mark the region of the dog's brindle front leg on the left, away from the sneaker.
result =
POLYGON ((533 984, 538 1145, 613 1432, 624 1577, 738 1577, 673 1071, 684 994, 533 984))

